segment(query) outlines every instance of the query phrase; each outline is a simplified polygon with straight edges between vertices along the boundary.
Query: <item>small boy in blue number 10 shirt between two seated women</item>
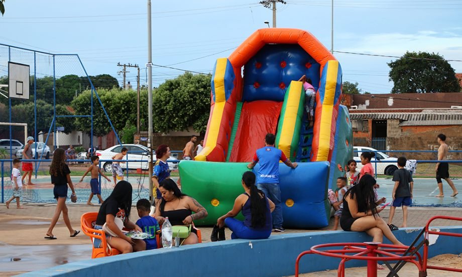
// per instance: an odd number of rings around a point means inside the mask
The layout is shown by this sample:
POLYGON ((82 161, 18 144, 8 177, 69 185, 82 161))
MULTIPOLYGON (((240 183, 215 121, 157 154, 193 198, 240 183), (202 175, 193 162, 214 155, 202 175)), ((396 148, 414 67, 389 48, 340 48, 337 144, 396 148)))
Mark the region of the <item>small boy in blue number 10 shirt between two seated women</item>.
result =
POLYGON ((156 233, 160 233, 160 227, 157 220, 149 215, 151 210, 151 203, 148 199, 140 199, 137 202, 138 216, 140 219, 137 221, 138 227, 143 232, 151 234, 150 238, 144 239, 146 242, 146 250, 157 249, 156 233))

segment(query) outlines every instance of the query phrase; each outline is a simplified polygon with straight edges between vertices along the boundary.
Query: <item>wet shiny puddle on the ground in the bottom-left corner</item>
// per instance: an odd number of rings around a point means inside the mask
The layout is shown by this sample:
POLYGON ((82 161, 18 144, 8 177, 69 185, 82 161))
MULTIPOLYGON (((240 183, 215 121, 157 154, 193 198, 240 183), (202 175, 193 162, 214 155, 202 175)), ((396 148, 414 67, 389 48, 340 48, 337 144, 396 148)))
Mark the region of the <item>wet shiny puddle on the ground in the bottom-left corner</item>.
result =
POLYGON ((91 258, 91 245, 10 245, 0 243, 0 272, 33 271, 91 258))

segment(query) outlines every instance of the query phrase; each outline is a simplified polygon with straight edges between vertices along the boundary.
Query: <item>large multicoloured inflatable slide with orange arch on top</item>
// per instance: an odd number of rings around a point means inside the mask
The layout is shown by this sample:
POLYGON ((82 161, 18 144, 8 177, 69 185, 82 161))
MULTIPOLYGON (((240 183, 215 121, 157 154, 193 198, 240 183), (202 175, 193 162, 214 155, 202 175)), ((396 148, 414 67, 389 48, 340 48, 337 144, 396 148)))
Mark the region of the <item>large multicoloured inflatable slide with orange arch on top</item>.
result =
MULTIPOLYGON (((208 211, 197 225, 214 224, 243 193, 242 174, 249 170, 265 135, 276 134, 275 147, 296 169, 280 163, 284 226, 328 225, 327 189, 351 159, 352 128, 348 109, 340 105, 341 68, 310 33, 297 29, 256 31, 228 59, 216 61, 205 145, 195 161, 182 161, 183 192, 208 211), (304 108, 298 80, 312 80, 316 90, 314 124, 304 108)), ((258 171, 258 164, 253 169, 258 171)))

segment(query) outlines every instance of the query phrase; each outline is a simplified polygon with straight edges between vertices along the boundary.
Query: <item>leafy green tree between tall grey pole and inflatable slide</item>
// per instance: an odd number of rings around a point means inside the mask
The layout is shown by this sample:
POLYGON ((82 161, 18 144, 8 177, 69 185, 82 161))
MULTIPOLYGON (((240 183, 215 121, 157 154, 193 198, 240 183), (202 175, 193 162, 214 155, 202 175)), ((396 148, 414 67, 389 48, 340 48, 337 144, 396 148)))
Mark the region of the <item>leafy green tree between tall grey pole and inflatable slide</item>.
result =
POLYGON ((210 112, 210 76, 186 72, 154 91, 153 127, 158 132, 197 132, 207 128, 210 112))

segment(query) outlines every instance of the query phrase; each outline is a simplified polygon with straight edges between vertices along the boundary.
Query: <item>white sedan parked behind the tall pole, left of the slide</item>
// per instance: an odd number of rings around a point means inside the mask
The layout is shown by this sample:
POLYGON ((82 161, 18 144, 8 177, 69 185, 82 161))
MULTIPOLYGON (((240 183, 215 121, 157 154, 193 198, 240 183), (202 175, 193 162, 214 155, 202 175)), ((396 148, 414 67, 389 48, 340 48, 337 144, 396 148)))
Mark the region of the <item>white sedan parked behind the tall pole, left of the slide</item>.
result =
MULTIPOLYGON (((125 147, 129 151, 127 153, 127 156, 124 157, 124 160, 132 160, 132 161, 141 161, 141 162, 129 162, 128 163, 128 168, 129 169, 143 169, 147 170, 148 169, 148 148, 143 146, 143 145, 135 145, 135 144, 125 144, 125 145, 116 145, 113 147, 109 147, 106 150, 96 150, 96 156, 99 156, 99 160, 107 160, 107 161, 101 161, 101 167, 104 169, 105 172, 112 172, 111 169, 111 164, 110 160, 112 160, 112 157, 116 154, 121 153, 122 148, 125 147)), ((156 160, 154 152, 154 161, 156 160)), ((172 160, 176 160, 173 157, 170 157, 167 159, 169 161, 168 167, 170 170, 175 170, 178 169, 178 162, 172 162, 172 160), (170 160, 170 161, 169 161, 170 160)), ((127 163, 121 164, 121 168, 123 170, 127 169, 127 163)))

